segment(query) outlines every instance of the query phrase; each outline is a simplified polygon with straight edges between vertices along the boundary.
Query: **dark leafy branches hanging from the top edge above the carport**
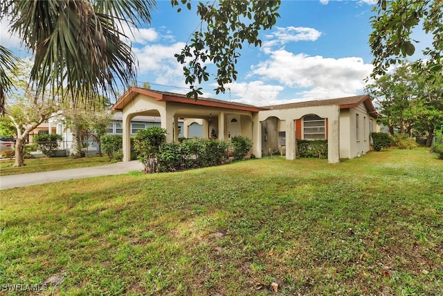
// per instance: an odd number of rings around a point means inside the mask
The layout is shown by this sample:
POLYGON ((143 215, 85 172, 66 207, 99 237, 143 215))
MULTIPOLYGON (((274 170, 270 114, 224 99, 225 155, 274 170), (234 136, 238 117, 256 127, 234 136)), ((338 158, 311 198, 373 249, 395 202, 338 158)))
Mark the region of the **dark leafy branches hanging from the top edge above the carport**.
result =
MULTIPOLYGON (((177 0, 171 0, 171 3, 172 6, 179 6, 177 0)), ((192 9, 191 0, 181 0, 181 4, 192 9)), ((194 96, 197 99, 202 94, 197 85, 209 80, 210 73, 205 62, 216 65, 215 91, 217 94, 224 92, 224 85, 237 79, 235 64, 243 44, 262 44, 258 33, 275 25, 280 17, 278 8, 280 0, 199 2, 197 15, 201 19, 200 27, 192 33, 190 43, 186 44, 180 54, 175 55, 177 61, 186 64, 183 73, 191 89, 188 97, 194 96)))

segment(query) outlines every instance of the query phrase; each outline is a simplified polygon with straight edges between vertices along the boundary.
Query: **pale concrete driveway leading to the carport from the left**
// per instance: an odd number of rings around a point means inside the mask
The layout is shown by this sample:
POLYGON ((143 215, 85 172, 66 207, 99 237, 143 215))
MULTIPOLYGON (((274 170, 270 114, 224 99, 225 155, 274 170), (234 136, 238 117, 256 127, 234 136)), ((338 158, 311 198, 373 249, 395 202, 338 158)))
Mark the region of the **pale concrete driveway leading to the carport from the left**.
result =
POLYGON ((84 177, 119 175, 130 171, 142 170, 143 164, 138 160, 133 160, 132 162, 117 162, 116 164, 107 164, 106 166, 91 166, 89 168, 71 168, 69 170, 60 171, 8 175, 0 177, 0 190, 71 179, 81 179, 84 177))

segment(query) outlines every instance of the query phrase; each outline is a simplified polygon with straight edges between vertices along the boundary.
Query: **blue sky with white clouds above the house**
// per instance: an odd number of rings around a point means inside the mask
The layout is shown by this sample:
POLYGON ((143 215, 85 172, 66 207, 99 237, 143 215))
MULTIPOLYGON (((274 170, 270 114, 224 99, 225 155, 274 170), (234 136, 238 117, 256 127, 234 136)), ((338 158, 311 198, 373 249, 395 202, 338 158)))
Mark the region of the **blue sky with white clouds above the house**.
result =
MULTIPOLYGON (((374 2, 282 0, 277 24, 260 33, 262 47, 244 46, 240 52, 237 81, 227 85, 230 92, 216 95, 210 80, 201 85, 204 96, 272 105, 363 94, 363 80, 372 71, 368 40, 374 2)), ((0 23, 1 44, 17 48, 19 42, 6 33, 6 23, 0 23)), ((139 63, 138 82, 186 94, 182 65, 174 54, 198 25, 194 11, 184 8, 178 13, 169 0, 157 1, 152 24, 130 40, 139 63)), ((417 55, 410 60, 420 58, 419 49, 425 46, 426 42, 418 44, 417 55)))

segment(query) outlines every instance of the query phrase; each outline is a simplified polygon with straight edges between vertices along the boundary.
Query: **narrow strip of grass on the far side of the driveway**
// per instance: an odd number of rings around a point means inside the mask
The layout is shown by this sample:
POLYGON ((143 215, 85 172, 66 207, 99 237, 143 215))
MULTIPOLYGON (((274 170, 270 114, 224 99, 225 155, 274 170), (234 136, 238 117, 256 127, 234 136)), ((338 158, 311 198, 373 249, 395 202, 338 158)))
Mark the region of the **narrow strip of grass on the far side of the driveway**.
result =
POLYGON ((67 168, 84 168, 88 166, 104 166, 109 163, 108 157, 71 157, 25 159, 25 166, 14 167, 14 159, 0 160, 0 176, 26 173, 64 170, 67 168))

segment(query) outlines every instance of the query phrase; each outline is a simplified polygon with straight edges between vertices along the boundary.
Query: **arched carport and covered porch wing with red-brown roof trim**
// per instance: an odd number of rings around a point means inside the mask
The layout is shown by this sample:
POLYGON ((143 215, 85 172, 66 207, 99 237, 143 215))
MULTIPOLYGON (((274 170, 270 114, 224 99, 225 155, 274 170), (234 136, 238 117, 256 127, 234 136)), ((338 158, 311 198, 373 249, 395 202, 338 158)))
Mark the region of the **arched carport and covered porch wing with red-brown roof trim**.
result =
MULTIPOLYGON (((186 95, 159 92, 152 89, 132 87, 112 107, 123 113, 123 161, 130 160, 131 120, 136 116, 159 116, 161 128, 167 132, 168 143, 179 140, 179 119, 183 121, 183 137, 188 137, 192 123, 203 125, 202 137, 229 141, 236 135, 249 137, 258 143, 254 124, 259 107, 232 103, 213 98, 199 98, 197 101, 186 95), (255 136, 255 137, 254 137, 255 136)), ((255 149, 253 151, 255 153, 255 149)))

